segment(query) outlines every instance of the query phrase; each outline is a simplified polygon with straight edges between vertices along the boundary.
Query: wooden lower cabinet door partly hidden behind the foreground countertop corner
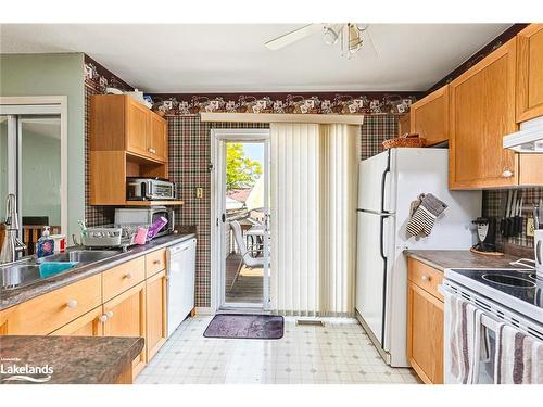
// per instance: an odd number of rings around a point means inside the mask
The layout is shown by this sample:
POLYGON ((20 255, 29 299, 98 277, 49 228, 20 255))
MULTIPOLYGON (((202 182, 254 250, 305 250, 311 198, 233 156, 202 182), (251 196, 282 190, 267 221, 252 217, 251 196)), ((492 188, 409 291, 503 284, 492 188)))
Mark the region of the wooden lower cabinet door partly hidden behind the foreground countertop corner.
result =
MULTIPOLYGON (((103 305, 108 318, 103 325, 104 336, 146 338, 146 283, 125 291, 103 305)), ((134 378, 146 366, 146 348, 132 361, 134 378)))

